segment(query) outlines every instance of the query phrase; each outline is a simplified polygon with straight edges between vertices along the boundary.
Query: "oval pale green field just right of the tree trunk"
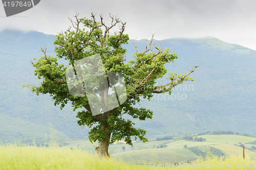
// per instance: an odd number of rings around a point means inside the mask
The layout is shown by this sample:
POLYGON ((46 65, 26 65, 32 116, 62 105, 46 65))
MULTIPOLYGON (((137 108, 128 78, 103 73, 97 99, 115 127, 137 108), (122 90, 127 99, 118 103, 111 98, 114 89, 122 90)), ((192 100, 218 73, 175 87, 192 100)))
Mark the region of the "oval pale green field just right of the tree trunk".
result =
POLYGON ((122 159, 129 163, 143 163, 150 162, 181 162, 187 160, 193 160, 197 158, 195 154, 184 148, 160 148, 160 149, 148 149, 129 151, 118 154, 113 154, 116 159, 122 159))

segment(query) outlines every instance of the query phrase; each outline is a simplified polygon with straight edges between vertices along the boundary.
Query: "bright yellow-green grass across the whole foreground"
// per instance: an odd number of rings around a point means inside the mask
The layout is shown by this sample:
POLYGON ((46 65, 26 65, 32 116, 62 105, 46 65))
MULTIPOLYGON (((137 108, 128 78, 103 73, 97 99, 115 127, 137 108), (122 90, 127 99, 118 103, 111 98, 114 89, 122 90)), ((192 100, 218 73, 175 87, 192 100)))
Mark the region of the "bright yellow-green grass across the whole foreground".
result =
MULTIPOLYGON (((146 151, 146 150, 145 150, 146 151)), ((182 152, 177 149, 177 152, 182 152)), ((146 153, 145 153, 146 154, 146 153)), ((174 153, 176 154, 176 153, 174 153)), ((165 160, 161 162, 147 162, 145 165, 129 164, 120 160, 99 159, 94 155, 80 149, 71 150, 67 147, 17 147, 16 145, 0 146, 0 169, 152 169, 156 167, 182 169, 212 168, 212 169, 254 169, 255 158, 245 159, 232 157, 208 158, 193 162, 179 162, 179 164, 168 164, 165 160), (248 167, 250 166, 250 167, 248 167)))

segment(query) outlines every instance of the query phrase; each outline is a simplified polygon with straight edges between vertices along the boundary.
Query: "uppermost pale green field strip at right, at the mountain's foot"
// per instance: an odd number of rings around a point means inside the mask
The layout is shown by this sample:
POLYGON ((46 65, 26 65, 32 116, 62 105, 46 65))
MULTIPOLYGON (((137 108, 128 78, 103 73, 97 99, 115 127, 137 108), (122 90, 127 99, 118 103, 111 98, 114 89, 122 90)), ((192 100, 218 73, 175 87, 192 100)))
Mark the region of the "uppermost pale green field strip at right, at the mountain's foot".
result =
POLYGON ((227 142, 227 143, 248 143, 256 140, 255 137, 241 136, 241 135, 202 135, 198 136, 205 138, 206 141, 227 142))

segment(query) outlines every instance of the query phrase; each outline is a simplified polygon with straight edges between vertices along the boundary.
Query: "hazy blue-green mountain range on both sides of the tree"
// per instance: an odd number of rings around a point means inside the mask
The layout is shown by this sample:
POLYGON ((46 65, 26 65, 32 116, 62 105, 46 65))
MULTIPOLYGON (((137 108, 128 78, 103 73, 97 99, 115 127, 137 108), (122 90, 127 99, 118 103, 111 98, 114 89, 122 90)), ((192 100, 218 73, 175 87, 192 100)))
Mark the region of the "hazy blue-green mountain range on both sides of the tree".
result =
MULTIPOLYGON (((39 50, 44 46, 50 56, 55 56, 54 39, 54 35, 39 32, 5 30, 0 33, 1 142, 16 138, 88 138, 89 128, 77 125, 76 112, 71 107, 60 110, 49 95, 37 96, 23 87, 40 82, 34 76, 30 60, 41 57, 39 50)), ((158 40, 154 42, 160 44, 158 40)), ((136 41, 139 51, 144 51, 145 44, 145 40, 136 41)), ((153 119, 134 120, 136 127, 147 131, 146 137, 214 130, 256 135, 256 51, 214 37, 172 38, 162 40, 161 44, 162 48, 174 47, 178 55, 174 63, 165 66, 168 72, 183 74, 193 65, 202 66, 191 74, 194 82, 183 83, 171 96, 160 94, 150 102, 140 102, 138 107, 154 111, 153 119)), ((133 59, 136 48, 133 43, 124 46, 127 62, 133 59)), ((157 83, 165 82, 166 79, 162 79, 157 83)))

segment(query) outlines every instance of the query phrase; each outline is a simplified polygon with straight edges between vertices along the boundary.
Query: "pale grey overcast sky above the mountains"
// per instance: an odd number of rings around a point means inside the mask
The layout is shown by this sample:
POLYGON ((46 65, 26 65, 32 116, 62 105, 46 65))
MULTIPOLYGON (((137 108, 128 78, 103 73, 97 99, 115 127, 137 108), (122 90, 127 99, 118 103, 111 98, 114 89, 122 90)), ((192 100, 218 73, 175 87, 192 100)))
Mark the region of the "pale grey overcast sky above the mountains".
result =
MULTIPOLYGON (((109 12, 126 21, 130 39, 162 40, 173 37, 213 36, 256 50, 256 1, 254 0, 41 0, 34 8, 6 17, 0 5, 0 31, 18 29, 57 34, 71 25, 68 17, 90 17, 109 12)), ((97 17, 99 18, 99 17, 97 17)))

